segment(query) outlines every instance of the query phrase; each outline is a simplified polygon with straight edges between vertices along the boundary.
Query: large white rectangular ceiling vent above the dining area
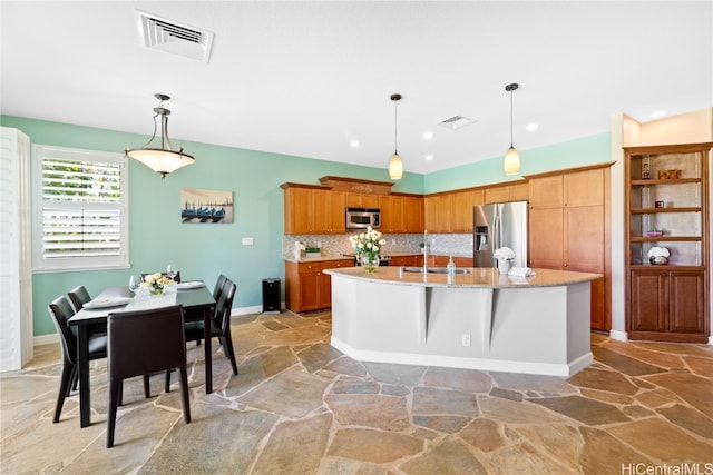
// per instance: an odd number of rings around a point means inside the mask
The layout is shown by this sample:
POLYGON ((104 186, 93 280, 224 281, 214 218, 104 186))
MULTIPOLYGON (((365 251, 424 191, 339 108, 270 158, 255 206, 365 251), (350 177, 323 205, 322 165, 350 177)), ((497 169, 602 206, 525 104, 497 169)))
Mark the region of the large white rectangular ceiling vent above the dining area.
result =
POLYGON ((138 29, 146 48, 208 62, 213 33, 136 10, 138 29))

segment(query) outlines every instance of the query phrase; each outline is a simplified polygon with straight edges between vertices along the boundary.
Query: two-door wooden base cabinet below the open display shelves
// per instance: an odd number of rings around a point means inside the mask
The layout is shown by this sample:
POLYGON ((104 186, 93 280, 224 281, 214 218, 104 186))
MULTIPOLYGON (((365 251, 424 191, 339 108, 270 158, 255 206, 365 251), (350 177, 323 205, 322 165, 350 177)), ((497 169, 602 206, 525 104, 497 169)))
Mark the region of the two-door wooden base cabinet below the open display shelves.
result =
POLYGON ((703 270, 632 269, 629 339, 706 343, 703 270))

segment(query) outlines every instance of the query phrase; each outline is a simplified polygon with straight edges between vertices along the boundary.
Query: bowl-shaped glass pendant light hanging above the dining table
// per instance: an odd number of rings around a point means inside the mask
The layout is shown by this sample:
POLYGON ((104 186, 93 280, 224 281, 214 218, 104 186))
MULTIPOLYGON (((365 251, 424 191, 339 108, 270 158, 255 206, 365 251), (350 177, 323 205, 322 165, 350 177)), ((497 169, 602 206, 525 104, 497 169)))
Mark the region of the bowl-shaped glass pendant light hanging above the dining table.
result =
POLYGON ((125 152, 127 157, 146 165, 164 179, 166 175, 186 165, 192 165, 196 159, 188 154, 184 154, 183 147, 178 150, 170 148, 170 141, 168 140, 168 116, 170 110, 164 108, 164 101, 169 100, 170 97, 162 93, 156 93, 154 97, 159 101, 158 107, 154 108, 154 112, 156 112, 154 116, 154 135, 144 147, 131 149, 127 147, 125 152), (156 118, 158 116, 160 116, 160 148, 154 148, 150 145, 156 138, 156 118))

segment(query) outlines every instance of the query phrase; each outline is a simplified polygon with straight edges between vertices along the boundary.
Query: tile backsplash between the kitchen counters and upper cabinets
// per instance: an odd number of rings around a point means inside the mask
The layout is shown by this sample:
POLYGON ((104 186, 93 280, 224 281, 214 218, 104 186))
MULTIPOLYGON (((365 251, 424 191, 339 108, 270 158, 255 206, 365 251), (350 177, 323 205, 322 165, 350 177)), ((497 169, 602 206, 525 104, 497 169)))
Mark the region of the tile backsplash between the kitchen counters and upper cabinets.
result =
MULTIPOLYGON (((419 244, 423 243, 423 235, 384 234, 383 239, 387 244, 383 246, 382 254, 419 254, 421 253, 419 244)), ((429 234, 428 241, 430 254, 472 257, 472 235, 470 234, 429 234)), ((294 259, 295 243, 302 243, 305 247, 319 247, 322 250, 322 257, 339 257, 354 253, 349 241, 349 234, 285 235, 282 237, 284 258, 294 259)))

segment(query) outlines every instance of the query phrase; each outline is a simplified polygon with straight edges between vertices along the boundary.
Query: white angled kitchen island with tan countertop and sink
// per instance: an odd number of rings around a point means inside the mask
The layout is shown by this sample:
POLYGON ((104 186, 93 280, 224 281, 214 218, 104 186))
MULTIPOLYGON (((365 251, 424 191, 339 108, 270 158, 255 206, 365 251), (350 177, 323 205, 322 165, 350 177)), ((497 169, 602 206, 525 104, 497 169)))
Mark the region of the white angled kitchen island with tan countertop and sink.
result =
POLYGON ((490 268, 329 269, 331 344, 363 362, 570 376, 592 364, 589 286, 599 274, 490 268), (404 271, 410 270, 410 271, 404 271))

